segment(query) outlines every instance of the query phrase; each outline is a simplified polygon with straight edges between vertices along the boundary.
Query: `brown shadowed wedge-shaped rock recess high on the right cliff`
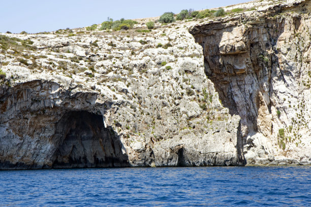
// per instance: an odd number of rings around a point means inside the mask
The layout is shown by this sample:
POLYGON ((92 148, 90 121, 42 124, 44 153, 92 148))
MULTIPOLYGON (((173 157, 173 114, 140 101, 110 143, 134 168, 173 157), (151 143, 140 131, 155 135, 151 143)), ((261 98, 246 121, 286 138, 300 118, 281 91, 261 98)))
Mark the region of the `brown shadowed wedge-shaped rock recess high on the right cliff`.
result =
POLYGON ((274 46, 284 32, 285 19, 264 21, 245 28, 241 37, 233 37, 236 38, 233 44, 224 34, 236 34, 234 29, 243 27, 242 24, 216 22, 190 30, 196 42, 203 47, 205 74, 214 83, 223 106, 229 109, 231 115, 241 117, 244 144, 248 133, 261 130, 258 115, 262 103, 271 114, 271 74, 279 66, 274 46), (268 54, 267 51, 271 50, 273 53, 268 54))

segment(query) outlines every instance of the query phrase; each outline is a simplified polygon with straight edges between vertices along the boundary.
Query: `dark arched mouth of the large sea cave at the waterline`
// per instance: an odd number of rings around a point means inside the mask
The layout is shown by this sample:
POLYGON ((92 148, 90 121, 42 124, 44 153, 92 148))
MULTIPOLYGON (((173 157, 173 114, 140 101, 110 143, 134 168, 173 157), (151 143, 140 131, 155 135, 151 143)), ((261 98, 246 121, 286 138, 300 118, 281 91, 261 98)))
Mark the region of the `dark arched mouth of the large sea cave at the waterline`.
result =
POLYGON ((122 143, 103 116, 87 111, 71 111, 56 124, 57 140, 52 168, 127 167, 129 158, 122 143))

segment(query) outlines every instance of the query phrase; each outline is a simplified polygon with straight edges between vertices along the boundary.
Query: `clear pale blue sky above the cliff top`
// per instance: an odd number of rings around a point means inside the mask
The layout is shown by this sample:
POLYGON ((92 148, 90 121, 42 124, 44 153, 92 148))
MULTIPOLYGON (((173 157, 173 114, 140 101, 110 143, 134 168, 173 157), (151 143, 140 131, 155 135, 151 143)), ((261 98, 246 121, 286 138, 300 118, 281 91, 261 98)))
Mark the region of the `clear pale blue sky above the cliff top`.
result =
POLYGON ((160 16, 182 9, 207 9, 249 0, 1 0, 0 32, 54 31, 98 24, 107 19, 135 19, 160 16))

